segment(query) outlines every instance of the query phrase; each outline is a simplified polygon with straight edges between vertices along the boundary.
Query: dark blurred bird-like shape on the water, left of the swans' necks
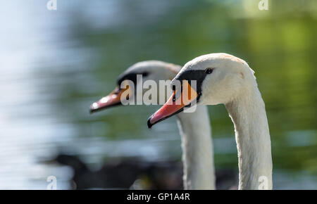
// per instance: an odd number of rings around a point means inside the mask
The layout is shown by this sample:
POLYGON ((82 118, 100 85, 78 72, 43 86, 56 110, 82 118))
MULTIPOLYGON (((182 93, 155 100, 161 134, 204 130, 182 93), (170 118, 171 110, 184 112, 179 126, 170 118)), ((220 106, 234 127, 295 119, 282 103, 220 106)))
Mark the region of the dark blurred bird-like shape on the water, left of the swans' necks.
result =
POLYGON ((91 170, 79 155, 58 153, 56 158, 44 162, 57 162, 72 168, 70 189, 175 190, 182 187, 182 167, 175 160, 151 162, 135 157, 108 158, 101 162, 98 170, 91 170))

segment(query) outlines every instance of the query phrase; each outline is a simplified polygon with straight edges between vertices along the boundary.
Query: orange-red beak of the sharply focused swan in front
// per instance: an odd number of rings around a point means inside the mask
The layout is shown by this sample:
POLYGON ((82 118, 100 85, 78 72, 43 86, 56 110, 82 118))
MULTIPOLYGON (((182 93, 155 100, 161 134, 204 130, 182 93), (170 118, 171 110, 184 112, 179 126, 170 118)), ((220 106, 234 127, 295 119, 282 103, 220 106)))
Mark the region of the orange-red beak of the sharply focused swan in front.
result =
POLYGON ((173 91, 173 94, 170 96, 168 101, 153 115, 151 115, 151 117, 149 117, 149 120, 147 120, 147 127, 151 129, 151 127, 156 123, 182 112, 185 107, 191 106, 192 101, 194 101, 197 96, 197 92, 186 80, 184 80, 182 82, 182 90, 173 91))

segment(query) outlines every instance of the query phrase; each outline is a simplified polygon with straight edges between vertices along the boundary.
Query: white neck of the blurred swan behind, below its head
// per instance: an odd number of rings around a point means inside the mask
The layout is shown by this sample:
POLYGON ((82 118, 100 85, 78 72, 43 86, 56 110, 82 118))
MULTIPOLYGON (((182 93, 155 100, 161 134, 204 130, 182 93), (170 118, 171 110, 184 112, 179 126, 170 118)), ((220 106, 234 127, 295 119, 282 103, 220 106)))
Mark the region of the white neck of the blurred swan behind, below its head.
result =
POLYGON ((211 126, 206 106, 178 114, 185 189, 215 189, 211 126))

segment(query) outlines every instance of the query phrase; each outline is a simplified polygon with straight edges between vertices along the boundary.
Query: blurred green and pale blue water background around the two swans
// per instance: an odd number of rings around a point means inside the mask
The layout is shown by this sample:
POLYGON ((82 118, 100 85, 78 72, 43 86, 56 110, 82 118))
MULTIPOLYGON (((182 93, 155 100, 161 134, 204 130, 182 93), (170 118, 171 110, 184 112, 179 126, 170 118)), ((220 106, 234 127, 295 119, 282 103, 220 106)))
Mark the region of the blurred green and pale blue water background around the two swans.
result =
MULTIPOLYGON (((274 189, 317 189, 317 1, 1 1, 0 189, 181 186, 175 117, 160 106, 89 115, 140 60, 184 65, 225 52, 256 72, 271 132, 274 189), (161 181, 161 183, 159 183, 161 181)), ((209 106, 216 170, 237 182, 234 128, 209 106), (228 176, 227 176, 228 174, 228 176)))

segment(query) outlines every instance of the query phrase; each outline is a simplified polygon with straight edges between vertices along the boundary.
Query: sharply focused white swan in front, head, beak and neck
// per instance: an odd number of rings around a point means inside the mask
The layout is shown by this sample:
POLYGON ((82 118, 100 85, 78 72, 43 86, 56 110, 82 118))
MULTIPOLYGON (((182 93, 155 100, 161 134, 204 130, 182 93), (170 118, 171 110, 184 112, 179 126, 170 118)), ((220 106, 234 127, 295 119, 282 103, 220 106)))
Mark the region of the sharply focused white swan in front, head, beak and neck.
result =
MULTIPOLYGON (((272 189, 271 139, 264 102, 254 71, 244 60, 226 53, 212 53, 194 58, 184 65, 175 80, 197 80, 197 104, 223 103, 235 125, 239 160, 239 189, 272 189)), ((190 85, 189 85, 190 87, 190 85)), ((148 120, 148 125, 170 117, 185 105, 175 105, 173 96, 148 120), (173 101, 174 102, 171 102, 173 101)), ((178 94, 177 94, 178 95, 178 94)), ((192 102, 194 103, 194 102, 192 102)), ((184 113, 186 114, 186 113, 184 113)))

